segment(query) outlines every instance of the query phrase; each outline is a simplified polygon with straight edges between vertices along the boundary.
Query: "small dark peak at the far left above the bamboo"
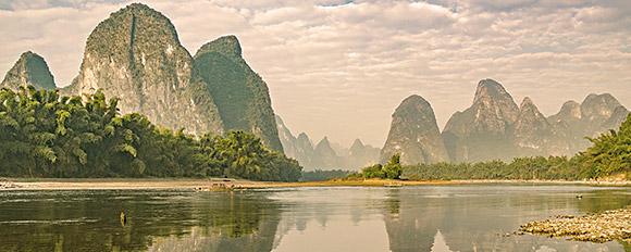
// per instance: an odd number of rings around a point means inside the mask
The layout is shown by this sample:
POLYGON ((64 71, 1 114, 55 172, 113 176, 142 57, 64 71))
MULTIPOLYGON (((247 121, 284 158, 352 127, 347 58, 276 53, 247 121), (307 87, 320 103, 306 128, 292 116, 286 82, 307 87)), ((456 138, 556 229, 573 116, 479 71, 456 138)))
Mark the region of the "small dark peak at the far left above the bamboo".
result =
POLYGON ((17 90, 20 86, 33 85, 37 89, 55 89, 54 78, 48 68, 48 64, 37 53, 27 51, 20 55, 20 59, 4 76, 0 87, 8 87, 17 90))

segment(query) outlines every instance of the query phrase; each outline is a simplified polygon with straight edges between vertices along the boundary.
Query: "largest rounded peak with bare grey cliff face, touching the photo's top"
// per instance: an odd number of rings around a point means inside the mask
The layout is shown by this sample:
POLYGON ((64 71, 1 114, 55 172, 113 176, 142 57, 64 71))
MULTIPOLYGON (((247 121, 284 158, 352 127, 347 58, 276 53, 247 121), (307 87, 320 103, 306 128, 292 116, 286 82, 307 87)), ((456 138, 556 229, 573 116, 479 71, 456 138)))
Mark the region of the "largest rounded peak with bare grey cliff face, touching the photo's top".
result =
POLYGON ((193 58, 173 24, 160 12, 133 3, 102 21, 86 42, 79 75, 64 89, 71 94, 102 89, 121 98, 122 113, 187 131, 222 133, 223 123, 193 58))

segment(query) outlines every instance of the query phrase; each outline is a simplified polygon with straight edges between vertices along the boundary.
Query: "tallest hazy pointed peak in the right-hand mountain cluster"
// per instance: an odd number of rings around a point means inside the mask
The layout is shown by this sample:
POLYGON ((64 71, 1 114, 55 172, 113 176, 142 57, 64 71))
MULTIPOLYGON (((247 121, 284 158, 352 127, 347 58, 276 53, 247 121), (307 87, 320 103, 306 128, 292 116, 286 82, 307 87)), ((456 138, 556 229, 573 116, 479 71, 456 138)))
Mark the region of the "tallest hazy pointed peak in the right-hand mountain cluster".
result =
POLYGON ((519 108, 500 84, 480 80, 473 104, 451 115, 443 130, 451 162, 509 159, 508 127, 518 115, 519 108))

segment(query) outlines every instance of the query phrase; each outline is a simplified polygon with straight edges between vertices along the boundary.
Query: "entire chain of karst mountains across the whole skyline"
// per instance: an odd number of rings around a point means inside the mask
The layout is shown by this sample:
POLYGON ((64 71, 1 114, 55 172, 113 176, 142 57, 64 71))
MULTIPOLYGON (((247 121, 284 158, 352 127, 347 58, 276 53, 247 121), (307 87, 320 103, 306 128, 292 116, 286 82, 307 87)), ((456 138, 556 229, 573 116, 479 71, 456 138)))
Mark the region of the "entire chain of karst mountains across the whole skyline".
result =
MULTIPOLYGON (((23 53, 2 81, 11 89, 27 84, 57 87, 46 61, 33 52, 23 53)), ((307 169, 359 169, 393 153, 401 153, 407 164, 572 155, 589 146, 583 137, 616 128, 629 113, 605 93, 590 94, 581 103, 568 101, 546 117, 530 98, 518 105, 499 83, 483 79, 471 106, 454 113, 442 131, 431 101, 411 96, 395 110, 383 149, 359 139, 345 148, 327 137, 314 144, 304 133, 292 135, 274 117, 268 86, 245 62, 235 36, 210 41, 191 56, 169 18, 139 3, 97 25, 86 41, 78 76, 62 93, 97 89, 121 98, 122 113, 138 112, 169 128, 255 133, 307 169)))

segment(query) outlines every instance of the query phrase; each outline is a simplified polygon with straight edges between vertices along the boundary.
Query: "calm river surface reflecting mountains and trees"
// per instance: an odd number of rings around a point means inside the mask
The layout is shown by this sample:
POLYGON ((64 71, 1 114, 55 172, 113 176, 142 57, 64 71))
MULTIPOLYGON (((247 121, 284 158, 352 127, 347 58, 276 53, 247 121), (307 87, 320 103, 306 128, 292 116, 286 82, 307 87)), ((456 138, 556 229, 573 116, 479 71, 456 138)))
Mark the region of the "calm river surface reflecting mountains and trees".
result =
POLYGON ((498 234, 623 207, 630 196, 529 184, 1 191, 0 251, 623 251, 618 242, 498 234))

